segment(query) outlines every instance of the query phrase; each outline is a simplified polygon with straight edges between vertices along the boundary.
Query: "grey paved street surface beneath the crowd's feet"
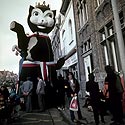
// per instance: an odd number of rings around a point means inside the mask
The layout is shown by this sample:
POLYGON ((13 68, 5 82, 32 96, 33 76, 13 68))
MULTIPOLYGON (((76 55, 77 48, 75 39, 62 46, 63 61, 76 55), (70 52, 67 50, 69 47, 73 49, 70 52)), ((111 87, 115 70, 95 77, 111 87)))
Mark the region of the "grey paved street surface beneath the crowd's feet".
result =
MULTIPOLYGON (((80 120, 77 123, 73 123, 70 120, 70 112, 68 109, 68 105, 66 104, 65 110, 52 108, 40 113, 38 113, 37 111, 33 111, 32 113, 25 113, 21 111, 20 118, 15 120, 12 125, 95 125, 93 112, 88 111, 87 108, 83 108, 83 105, 84 99, 80 99, 83 120, 80 120)), ((112 122, 111 118, 112 117, 110 113, 105 116, 105 125, 110 125, 110 123, 112 122)), ((104 125, 104 123, 100 122, 100 125, 104 125)))

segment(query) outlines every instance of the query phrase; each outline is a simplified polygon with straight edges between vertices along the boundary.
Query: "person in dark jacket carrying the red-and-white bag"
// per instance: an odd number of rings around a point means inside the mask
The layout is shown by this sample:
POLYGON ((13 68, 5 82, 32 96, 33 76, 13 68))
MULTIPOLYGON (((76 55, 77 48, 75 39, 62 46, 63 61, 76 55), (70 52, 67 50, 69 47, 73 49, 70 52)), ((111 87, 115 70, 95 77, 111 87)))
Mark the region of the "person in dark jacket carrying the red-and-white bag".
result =
MULTIPOLYGON (((77 101, 78 101, 78 119, 81 120, 83 119, 82 114, 81 114, 81 110, 80 110, 80 105, 79 105, 79 98, 78 98, 78 92, 79 92, 79 83, 77 81, 77 79, 75 79, 74 75, 72 72, 68 73, 68 81, 65 85, 65 89, 66 89, 66 93, 67 93, 67 97, 69 100, 69 104, 70 101, 72 99, 73 96, 77 96, 77 101)), ((70 110, 70 116, 71 116, 71 120, 72 122, 77 122, 77 120, 75 119, 75 115, 74 115, 74 111, 70 110)))

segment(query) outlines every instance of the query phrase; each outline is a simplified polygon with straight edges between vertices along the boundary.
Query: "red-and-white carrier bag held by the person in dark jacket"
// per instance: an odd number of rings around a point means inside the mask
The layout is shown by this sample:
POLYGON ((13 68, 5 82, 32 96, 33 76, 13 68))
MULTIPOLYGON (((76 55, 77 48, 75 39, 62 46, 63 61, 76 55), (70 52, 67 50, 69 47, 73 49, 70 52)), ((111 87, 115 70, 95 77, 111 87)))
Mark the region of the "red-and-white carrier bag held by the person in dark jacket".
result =
POLYGON ((78 111, 78 101, 77 101, 77 96, 74 96, 71 99, 69 109, 72 111, 78 111))

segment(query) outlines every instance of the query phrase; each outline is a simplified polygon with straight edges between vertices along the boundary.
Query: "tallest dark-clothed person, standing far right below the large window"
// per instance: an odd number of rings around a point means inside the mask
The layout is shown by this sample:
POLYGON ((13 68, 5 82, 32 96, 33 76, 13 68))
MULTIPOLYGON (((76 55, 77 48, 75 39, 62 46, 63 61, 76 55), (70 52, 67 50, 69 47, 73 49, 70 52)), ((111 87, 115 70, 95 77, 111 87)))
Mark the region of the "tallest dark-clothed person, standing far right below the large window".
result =
POLYGON ((123 88, 121 83, 118 82, 120 77, 110 65, 105 66, 107 76, 105 78, 105 85, 108 86, 110 111, 113 115, 113 120, 110 125, 121 125, 123 122, 123 109, 122 109, 122 94, 123 88), (119 88, 118 88, 119 86, 119 88))

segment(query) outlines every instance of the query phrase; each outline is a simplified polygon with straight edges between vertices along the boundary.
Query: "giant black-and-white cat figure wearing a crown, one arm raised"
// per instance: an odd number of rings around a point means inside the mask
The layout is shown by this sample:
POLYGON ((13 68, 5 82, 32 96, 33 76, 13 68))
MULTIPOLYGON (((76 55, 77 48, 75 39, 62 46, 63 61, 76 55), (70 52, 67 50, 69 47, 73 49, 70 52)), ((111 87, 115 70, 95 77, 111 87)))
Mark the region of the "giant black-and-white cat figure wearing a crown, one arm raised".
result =
MULTIPOLYGON (((55 15, 56 11, 50 10, 49 5, 46 6, 44 1, 42 5, 38 3, 35 7, 29 8, 27 22, 33 32, 31 36, 26 35, 24 27, 16 21, 10 24, 10 29, 17 33, 18 38, 18 45, 14 49, 21 53, 21 61, 23 60, 20 63, 19 81, 25 81, 26 77, 31 77, 34 83, 32 99, 36 98, 38 76, 42 76, 46 81, 48 95, 54 93, 51 88, 57 82, 56 69, 64 64, 64 58, 57 63, 54 62, 51 40, 48 36, 55 26, 55 15)), ((33 105, 37 107, 35 103, 33 105)))

